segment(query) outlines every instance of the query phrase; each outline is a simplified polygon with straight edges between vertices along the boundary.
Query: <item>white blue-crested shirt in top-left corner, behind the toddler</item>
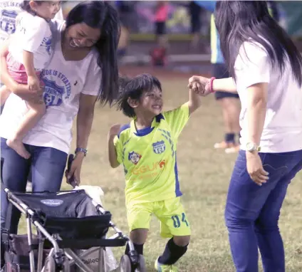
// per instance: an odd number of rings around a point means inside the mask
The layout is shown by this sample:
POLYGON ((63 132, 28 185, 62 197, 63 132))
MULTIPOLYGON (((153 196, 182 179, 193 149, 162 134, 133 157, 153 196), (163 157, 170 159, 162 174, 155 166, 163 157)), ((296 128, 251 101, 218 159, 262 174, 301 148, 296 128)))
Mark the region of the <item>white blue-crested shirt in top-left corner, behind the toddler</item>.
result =
POLYGON ((0 1, 0 44, 16 31, 16 16, 22 3, 23 0, 0 1))

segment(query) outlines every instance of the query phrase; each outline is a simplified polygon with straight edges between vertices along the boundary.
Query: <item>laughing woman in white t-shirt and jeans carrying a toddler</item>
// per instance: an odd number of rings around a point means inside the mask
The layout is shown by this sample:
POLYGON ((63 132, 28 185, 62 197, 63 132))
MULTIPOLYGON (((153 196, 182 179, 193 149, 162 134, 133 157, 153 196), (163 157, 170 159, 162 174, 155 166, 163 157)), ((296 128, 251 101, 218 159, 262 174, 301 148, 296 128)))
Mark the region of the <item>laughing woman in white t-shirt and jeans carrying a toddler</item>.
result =
MULTIPOLYGON (((85 1, 69 12, 66 22, 53 21, 51 28, 53 56, 41 73, 46 114, 23 141, 30 159, 14 152, 6 145, 6 139, 16 131, 26 113, 24 100, 39 100, 41 92, 29 91, 9 75, 5 62, 9 44, 2 46, 0 52, 1 80, 11 90, 0 117, 2 175, 4 185, 16 192, 25 191, 29 169, 34 192, 60 189, 75 116, 77 147, 68 178, 73 177, 79 183, 95 102, 111 104, 118 95, 116 51, 120 25, 115 9, 104 1, 85 1)), ((1 226, 6 207, 5 193, 1 190, 1 226)), ((14 213, 14 232, 18 222, 19 214, 14 213)))

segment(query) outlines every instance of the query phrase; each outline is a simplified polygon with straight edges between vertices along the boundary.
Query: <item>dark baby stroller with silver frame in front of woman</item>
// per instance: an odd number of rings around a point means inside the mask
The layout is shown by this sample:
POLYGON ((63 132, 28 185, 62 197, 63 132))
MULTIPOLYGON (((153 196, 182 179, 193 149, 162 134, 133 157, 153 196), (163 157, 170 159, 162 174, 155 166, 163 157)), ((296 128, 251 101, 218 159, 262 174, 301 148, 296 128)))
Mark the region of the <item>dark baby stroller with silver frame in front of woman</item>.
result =
MULTIPOLYGON (((69 167, 72 159, 70 155, 69 167)), ((1 169, 3 163, 1 159, 1 169)), ((4 192, 9 199, 9 209, 6 227, 1 229, 5 254, 2 271, 103 272, 107 271, 106 248, 126 244, 130 253, 122 256, 118 271, 146 271, 143 256, 137 254, 130 239, 113 224, 110 211, 105 211, 84 190, 19 193, 5 188, 4 192), (13 206, 26 216, 26 236, 10 234, 13 206), (36 226, 37 235, 32 233, 32 225, 36 226), (107 238, 110 228, 115 234, 107 238), (83 261, 91 253, 97 253, 98 259, 91 262, 98 263, 98 268, 92 269, 88 266, 90 261, 83 261)))

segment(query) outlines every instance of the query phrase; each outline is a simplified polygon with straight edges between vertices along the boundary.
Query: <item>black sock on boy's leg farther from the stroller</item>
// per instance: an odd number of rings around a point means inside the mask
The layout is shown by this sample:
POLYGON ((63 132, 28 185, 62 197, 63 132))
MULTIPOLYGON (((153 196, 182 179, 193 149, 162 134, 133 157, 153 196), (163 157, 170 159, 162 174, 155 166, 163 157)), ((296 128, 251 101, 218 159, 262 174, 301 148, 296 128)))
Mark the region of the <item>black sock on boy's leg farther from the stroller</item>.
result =
POLYGON ((167 245, 165 247, 164 253, 162 253, 162 256, 158 259, 159 263, 171 265, 173 263, 176 263, 180 257, 186 253, 188 249, 187 246, 177 246, 175 242, 173 241, 173 238, 170 239, 167 242, 167 245))

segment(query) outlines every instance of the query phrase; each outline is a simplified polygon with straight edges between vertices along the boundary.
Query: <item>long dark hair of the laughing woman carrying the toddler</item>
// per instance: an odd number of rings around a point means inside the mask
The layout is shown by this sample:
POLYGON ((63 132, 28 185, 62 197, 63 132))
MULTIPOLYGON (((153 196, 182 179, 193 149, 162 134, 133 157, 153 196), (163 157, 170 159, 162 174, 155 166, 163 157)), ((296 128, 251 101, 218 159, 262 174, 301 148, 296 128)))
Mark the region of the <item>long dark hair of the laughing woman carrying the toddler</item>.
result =
POLYGON ((106 1, 85 1, 76 5, 68 14, 66 28, 75 23, 86 23, 92 28, 100 28, 100 39, 95 43, 98 50, 98 66, 102 69, 102 83, 98 93, 101 104, 118 97, 118 41, 120 21, 118 12, 106 1))

